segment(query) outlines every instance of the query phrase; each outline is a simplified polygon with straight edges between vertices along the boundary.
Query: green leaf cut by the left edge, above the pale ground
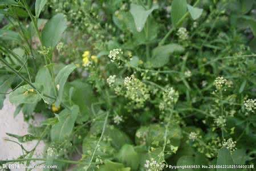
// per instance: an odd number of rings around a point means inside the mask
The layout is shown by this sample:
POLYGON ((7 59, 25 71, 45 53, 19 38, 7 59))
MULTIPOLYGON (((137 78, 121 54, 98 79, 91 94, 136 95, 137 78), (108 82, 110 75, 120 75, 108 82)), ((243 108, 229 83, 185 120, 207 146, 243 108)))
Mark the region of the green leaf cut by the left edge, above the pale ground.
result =
POLYGON ((0 77, 0 109, 3 108, 3 101, 5 100, 5 94, 7 90, 11 87, 15 76, 5 75, 0 77))

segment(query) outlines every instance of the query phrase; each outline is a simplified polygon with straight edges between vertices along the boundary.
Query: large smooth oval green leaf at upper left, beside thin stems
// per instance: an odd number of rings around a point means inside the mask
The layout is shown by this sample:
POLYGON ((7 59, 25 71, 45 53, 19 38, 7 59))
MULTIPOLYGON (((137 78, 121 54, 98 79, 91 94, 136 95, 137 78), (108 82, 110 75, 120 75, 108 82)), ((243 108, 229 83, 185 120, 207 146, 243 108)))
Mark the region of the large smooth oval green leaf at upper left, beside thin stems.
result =
POLYGON ((67 28, 67 20, 64 14, 56 14, 50 19, 42 30, 43 46, 54 48, 62 38, 62 33, 67 28))

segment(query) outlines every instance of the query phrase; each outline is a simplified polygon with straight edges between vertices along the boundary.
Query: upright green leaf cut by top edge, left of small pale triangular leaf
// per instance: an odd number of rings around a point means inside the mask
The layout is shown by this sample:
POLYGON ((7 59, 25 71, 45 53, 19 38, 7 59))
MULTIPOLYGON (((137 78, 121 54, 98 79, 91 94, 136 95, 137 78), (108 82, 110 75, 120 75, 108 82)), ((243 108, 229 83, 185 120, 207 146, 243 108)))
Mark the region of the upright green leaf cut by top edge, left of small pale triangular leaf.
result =
POLYGON ((177 27, 178 21, 186 14, 186 0, 174 0, 172 2, 172 10, 170 11, 170 17, 172 18, 172 23, 177 27))

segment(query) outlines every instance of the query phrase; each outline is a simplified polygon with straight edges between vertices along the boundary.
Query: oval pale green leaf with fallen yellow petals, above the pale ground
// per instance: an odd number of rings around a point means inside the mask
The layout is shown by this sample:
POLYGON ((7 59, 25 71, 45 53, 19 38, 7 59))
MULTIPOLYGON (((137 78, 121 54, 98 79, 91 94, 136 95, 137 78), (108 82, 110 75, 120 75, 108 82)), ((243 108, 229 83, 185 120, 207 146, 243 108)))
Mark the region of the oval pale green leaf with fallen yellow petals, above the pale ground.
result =
MULTIPOLYGON (((40 84, 32 84, 39 89, 39 91, 42 91, 43 88, 40 84)), ((9 99, 11 103, 18 105, 22 103, 36 103, 41 100, 41 96, 29 84, 26 84, 11 92, 9 99)))

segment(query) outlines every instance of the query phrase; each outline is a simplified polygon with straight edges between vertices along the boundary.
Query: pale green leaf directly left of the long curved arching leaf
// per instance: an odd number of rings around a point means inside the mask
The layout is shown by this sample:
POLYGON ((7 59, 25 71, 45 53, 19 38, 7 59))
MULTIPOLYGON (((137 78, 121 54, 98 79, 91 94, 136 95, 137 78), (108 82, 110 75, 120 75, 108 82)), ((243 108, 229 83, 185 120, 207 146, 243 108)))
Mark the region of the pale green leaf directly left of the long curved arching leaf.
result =
MULTIPOLYGON (((45 95, 54 95, 54 84, 52 83, 51 74, 48 68, 40 68, 40 70, 36 74, 35 82, 43 86, 43 93, 45 95)), ((50 103, 53 102, 51 98, 45 97, 45 99, 50 103)))

